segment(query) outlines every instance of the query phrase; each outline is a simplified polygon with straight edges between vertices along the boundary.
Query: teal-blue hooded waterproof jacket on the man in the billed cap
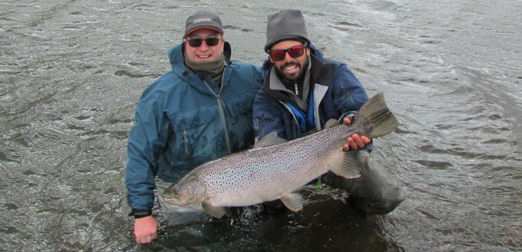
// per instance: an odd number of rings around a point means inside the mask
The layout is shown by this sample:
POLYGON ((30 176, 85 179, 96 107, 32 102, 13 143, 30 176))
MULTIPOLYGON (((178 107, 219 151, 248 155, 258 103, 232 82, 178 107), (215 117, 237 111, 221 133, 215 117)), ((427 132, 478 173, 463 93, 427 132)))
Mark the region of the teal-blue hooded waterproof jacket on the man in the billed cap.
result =
POLYGON ((168 52, 172 70, 145 89, 136 108, 127 147, 127 200, 134 210, 151 210, 155 176, 175 182, 196 166, 253 141, 252 104, 260 90, 260 67, 230 62, 221 88, 211 78, 191 74, 183 61, 184 45, 168 52))

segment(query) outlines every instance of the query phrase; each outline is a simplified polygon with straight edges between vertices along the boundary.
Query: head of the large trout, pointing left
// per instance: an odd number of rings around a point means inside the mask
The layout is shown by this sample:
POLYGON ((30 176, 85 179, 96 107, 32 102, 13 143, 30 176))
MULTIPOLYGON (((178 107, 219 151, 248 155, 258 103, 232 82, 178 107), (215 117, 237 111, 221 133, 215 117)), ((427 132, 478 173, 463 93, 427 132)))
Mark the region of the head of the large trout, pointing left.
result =
POLYGON ((186 178, 171 184, 164 191, 166 203, 184 207, 201 203, 205 199, 205 185, 198 178, 186 178))

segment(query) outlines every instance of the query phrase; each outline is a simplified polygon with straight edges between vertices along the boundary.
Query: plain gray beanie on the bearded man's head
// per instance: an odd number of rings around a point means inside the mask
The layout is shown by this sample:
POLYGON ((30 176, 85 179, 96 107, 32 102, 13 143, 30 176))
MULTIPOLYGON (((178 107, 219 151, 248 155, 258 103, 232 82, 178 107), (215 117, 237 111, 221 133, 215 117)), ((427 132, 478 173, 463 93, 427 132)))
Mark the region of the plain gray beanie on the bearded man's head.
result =
POLYGON ((308 33, 301 10, 280 10, 276 14, 268 16, 267 44, 264 52, 283 40, 297 40, 308 42, 308 33))

